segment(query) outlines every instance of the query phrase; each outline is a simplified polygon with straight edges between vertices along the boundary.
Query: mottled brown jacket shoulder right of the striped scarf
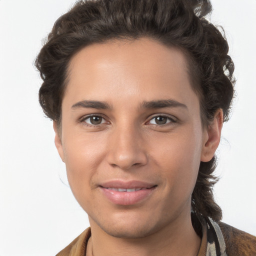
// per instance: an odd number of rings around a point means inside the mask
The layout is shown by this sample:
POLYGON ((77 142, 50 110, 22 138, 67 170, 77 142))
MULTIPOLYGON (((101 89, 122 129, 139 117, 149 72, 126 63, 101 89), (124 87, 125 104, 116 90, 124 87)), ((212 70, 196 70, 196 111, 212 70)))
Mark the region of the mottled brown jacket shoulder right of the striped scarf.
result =
POLYGON ((218 223, 226 244, 228 256, 256 256, 256 236, 223 222, 218 223))

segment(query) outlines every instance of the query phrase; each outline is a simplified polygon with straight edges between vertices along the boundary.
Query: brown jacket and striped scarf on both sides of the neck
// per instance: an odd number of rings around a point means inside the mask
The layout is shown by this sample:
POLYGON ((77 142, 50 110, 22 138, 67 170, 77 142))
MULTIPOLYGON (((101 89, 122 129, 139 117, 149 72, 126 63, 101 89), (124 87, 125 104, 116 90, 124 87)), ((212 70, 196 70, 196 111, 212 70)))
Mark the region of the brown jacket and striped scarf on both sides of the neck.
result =
MULTIPOLYGON (((90 235, 88 227, 56 256, 85 256, 90 235)), ((256 237, 223 222, 205 218, 197 256, 256 256, 256 237)))

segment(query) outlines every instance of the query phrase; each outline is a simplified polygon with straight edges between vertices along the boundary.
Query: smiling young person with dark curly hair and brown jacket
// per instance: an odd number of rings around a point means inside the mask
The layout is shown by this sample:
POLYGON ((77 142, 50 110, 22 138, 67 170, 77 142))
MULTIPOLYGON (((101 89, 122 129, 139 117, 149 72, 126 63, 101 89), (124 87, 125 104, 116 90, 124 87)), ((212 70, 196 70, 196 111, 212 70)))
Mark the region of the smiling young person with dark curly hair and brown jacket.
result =
POLYGON ((57 255, 256 255, 212 195, 234 79, 210 9, 87 0, 54 24, 39 100, 90 222, 57 255))

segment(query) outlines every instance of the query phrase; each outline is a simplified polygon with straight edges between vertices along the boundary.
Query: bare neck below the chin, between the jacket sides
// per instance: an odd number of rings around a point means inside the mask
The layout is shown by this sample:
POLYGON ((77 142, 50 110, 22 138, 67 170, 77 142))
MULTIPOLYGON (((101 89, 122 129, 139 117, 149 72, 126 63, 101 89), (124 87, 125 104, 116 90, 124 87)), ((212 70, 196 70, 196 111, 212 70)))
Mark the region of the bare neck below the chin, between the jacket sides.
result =
POLYGON ((90 219, 91 238, 86 256, 196 256, 200 237, 195 233, 190 214, 184 219, 177 218, 161 230, 139 238, 120 238, 104 232, 90 219))

